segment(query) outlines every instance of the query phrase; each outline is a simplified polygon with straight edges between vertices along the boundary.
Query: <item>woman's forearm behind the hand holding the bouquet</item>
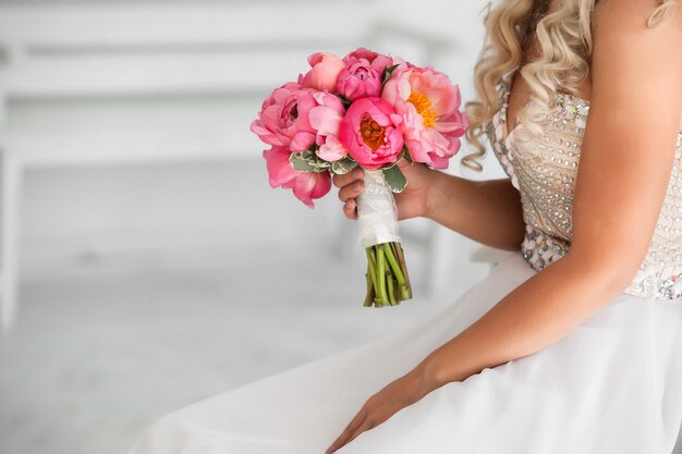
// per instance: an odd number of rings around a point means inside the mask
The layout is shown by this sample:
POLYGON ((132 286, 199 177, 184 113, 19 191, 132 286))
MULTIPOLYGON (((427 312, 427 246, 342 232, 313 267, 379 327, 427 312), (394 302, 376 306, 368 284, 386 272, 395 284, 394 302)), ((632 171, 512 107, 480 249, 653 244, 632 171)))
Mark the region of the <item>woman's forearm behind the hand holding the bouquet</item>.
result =
POLYGON ((427 218, 487 246, 519 249, 525 223, 509 180, 476 182, 439 172, 428 197, 427 218))

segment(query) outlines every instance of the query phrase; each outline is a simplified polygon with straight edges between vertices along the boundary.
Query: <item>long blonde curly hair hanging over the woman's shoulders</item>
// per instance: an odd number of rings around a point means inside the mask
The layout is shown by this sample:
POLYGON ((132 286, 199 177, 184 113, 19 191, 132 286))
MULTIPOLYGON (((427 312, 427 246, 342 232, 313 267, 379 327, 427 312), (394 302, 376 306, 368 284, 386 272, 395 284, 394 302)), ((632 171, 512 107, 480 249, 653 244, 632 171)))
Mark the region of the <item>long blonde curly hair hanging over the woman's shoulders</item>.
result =
MULTIPOLYGON (((462 164, 480 171, 477 158, 486 154, 482 143, 488 123, 499 110, 498 85, 501 77, 522 63, 523 51, 535 32, 540 57, 521 69, 531 88, 528 103, 520 110, 523 124, 521 139, 541 133, 539 123, 551 109, 553 94, 577 95, 577 87, 587 78, 592 56, 592 16, 596 0, 564 0, 553 12, 537 17, 537 0, 503 0, 485 16, 487 39, 474 69, 477 100, 465 105, 470 119, 466 138, 475 151, 462 158, 462 164)), ((678 0, 660 0, 646 25, 658 25, 678 0)), ((547 8, 547 7, 545 7, 547 8)), ((539 10, 543 13, 541 10, 539 10)))

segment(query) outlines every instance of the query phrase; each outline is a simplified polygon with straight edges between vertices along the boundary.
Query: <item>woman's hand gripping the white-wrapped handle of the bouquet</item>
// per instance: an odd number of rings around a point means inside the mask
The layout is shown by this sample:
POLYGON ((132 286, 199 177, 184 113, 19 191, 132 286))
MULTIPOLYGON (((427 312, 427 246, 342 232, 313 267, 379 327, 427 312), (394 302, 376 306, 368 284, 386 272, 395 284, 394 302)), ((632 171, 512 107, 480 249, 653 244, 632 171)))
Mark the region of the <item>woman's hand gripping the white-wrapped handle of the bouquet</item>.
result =
MULTIPOLYGON (((435 176, 441 172, 430 170, 425 164, 410 163, 404 159, 398 162, 407 179, 407 186, 400 194, 394 194, 398 219, 426 216, 429 211, 429 189, 435 176)), ((357 197, 365 188, 363 169, 355 169, 345 175, 333 175, 333 184, 339 187, 339 198, 344 203, 343 212, 349 219, 357 219, 357 197)))

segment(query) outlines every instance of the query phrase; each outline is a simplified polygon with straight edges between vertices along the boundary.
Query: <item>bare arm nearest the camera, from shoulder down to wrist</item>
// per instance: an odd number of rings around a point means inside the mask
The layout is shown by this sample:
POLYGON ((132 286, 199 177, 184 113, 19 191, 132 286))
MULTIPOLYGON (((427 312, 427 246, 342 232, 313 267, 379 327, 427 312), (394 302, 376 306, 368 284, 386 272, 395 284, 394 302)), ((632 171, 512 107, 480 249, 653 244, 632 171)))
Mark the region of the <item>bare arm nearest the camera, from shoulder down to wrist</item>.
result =
POLYGON ((419 366, 428 388, 559 341, 634 277, 666 194, 682 99, 682 13, 673 9, 647 29, 654 3, 623 0, 597 9, 570 253, 429 355, 419 366))

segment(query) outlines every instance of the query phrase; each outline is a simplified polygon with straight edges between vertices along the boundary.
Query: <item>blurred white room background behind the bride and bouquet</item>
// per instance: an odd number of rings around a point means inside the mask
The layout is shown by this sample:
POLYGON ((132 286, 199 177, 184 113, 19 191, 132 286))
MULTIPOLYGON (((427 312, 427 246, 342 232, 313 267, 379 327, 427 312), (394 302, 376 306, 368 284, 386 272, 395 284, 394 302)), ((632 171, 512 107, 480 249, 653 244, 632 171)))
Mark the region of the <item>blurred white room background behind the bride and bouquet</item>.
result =
MULTIPOLYGON (((332 191, 268 186, 248 125, 316 51, 473 97, 487 2, 0 0, 0 454, 122 453, 163 414, 390 335, 506 253, 401 223, 414 299, 362 307, 332 191), (501 256, 500 256, 501 254, 501 256)), ((501 177, 491 155, 484 172, 501 177)))

